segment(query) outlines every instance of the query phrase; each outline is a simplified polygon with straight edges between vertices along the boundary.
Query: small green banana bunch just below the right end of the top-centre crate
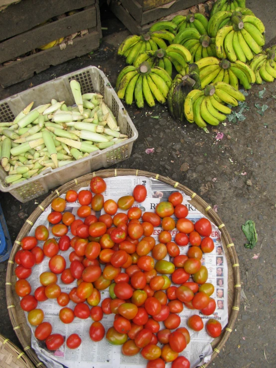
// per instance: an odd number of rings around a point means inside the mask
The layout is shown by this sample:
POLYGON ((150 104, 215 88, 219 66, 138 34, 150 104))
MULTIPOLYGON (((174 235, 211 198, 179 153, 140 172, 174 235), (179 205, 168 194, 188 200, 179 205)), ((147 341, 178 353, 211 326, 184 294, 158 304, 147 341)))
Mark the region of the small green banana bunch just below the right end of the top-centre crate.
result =
POLYGON ((188 14, 187 16, 176 15, 171 21, 176 24, 177 32, 186 28, 195 28, 201 35, 208 34, 208 19, 201 13, 188 14))

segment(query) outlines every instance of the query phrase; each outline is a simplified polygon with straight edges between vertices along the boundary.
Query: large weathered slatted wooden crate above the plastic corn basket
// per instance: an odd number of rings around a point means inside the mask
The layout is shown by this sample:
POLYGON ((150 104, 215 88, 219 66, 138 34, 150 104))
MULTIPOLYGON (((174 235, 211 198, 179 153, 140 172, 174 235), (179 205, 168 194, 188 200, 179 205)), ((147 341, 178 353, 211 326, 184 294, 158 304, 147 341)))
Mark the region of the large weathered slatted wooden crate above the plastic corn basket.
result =
POLYGON ((0 84, 3 87, 95 50, 102 38, 98 0, 21 0, 0 9, 0 24, 0 84), (68 15, 70 11, 72 14, 68 15), (67 16, 42 24, 64 13, 67 16), (19 57, 85 29, 88 29, 87 34, 67 42, 64 49, 57 45, 19 57), (10 60, 15 61, 8 63, 10 60))

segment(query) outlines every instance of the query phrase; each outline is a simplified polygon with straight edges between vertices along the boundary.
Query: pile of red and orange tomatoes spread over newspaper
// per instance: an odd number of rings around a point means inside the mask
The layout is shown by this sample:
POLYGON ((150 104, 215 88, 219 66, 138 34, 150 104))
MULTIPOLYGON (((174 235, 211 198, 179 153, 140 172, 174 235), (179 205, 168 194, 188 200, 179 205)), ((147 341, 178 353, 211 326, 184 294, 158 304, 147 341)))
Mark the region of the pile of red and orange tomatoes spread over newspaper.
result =
MULTIPOLYGON (((52 201, 48 221, 53 225, 52 234, 59 238, 58 242, 50 239, 48 229, 41 225, 35 229, 34 237, 21 240, 22 249, 15 255, 18 264, 15 291, 22 297, 20 305, 28 312, 29 323, 37 326, 35 337, 45 340, 49 350, 57 350, 64 343, 62 335, 52 334, 51 324, 43 322, 43 310, 37 308, 38 301, 56 299, 61 306, 59 318, 63 323, 71 323, 76 317, 92 319, 89 330, 92 341, 106 336, 111 344, 122 345, 124 355, 140 352, 148 360, 147 368, 164 368, 166 362, 173 362, 172 368, 189 368, 189 361, 178 356, 190 341, 188 330, 179 328, 178 314, 188 308, 208 316, 216 309, 215 300, 210 297, 214 286, 206 282, 208 271, 201 264, 203 252, 214 249, 210 221, 201 218, 194 224, 187 219, 188 209, 182 204, 179 192, 171 194, 168 202, 160 202, 155 213, 142 214, 138 207, 133 207, 135 201, 141 203, 146 198, 142 185, 137 185, 132 196, 121 197, 118 203, 112 199, 104 201, 102 193, 106 183, 102 178, 94 177, 90 189, 79 193, 69 190, 65 199, 58 197, 52 201), (81 205, 77 214, 82 220, 64 212, 66 202, 76 200, 81 205), (104 215, 99 218, 91 215, 92 210, 101 209, 105 210, 104 215), (120 209, 128 213, 118 212, 120 209), (151 235, 154 227, 160 225, 160 243, 155 244, 151 235), (67 236, 69 227, 73 239, 67 236), (178 233, 172 242, 170 232, 175 227, 178 233), (37 241, 44 242, 42 248, 37 241), (188 243, 192 246, 187 255, 180 254, 179 247, 188 243), (68 267, 65 258, 58 253, 70 247, 68 267), (163 259, 167 254, 171 262, 163 259), (49 271, 40 275, 41 286, 31 295, 26 278, 44 257, 49 258, 49 271), (57 274, 61 274, 64 284, 76 282, 69 294, 61 291, 57 274), (178 286, 172 286, 171 282, 178 286), (110 297, 102 300, 99 306, 101 290, 107 288, 110 297), (70 300, 76 304, 74 310, 67 307, 70 300), (104 314, 111 313, 114 314, 113 327, 106 332, 100 321, 104 314), (165 326, 162 330, 161 321, 165 326), (163 344, 162 348, 157 346, 158 342, 163 344)), ((198 314, 192 315, 187 324, 194 331, 204 327, 198 314)), ((206 331, 213 338, 221 334, 221 329, 220 322, 215 319, 206 323, 206 331)), ((77 334, 67 338, 68 348, 76 349, 80 344, 77 334)))

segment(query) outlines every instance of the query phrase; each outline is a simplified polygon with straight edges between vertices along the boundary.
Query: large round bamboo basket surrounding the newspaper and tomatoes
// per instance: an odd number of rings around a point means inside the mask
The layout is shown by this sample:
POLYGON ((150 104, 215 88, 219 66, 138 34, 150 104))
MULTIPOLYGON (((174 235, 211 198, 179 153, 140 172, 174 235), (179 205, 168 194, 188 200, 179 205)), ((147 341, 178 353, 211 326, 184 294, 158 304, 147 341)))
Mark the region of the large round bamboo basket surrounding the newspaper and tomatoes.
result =
POLYGON ((163 183, 171 185, 172 187, 182 190, 185 194, 191 197, 191 205, 198 209, 202 214, 209 218, 221 231, 221 239, 223 244, 224 253, 227 257, 228 263, 228 325, 223 330, 221 336, 214 339, 212 342, 213 354, 211 360, 205 363, 200 368, 206 368, 214 361, 216 356, 220 353, 222 347, 228 340, 233 328, 235 321, 239 313, 240 305, 240 269, 238 262, 238 255, 235 246, 231 240, 229 232, 222 222, 220 217, 212 207, 206 203, 200 196, 194 193, 191 189, 175 182, 168 177, 161 176, 159 174, 154 174, 148 171, 142 170, 131 170, 131 169, 107 169, 99 170, 87 175, 83 175, 79 178, 69 181, 68 183, 62 185, 55 191, 53 191, 42 203, 40 203, 37 208, 33 211, 30 217, 25 221, 22 229, 20 230, 17 239, 14 242, 10 258, 8 260, 7 273, 6 273, 6 300, 9 317, 21 345, 24 351, 29 356, 35 367, 45 367, 37 358, 35 352, 30 348, 31 346, 31 331, 27 325, 25 314, 20 308, 20 299, 14 292, 14 284, 16 281, 16 276, 14 274, 14 255, 20 248, 20 241, 23 237, 27 236, 31 227, 44 211, 47 206, 52 202, 54 198, 59 197, 61 194, 66 193, 69 189, 79 190, 81 187, 89 186, 92 177, 101 176, 102 178, 109 178, 114 176, 124 176, 124 175, 134 175, 134 176, 146 176, 155 178, 163 183))

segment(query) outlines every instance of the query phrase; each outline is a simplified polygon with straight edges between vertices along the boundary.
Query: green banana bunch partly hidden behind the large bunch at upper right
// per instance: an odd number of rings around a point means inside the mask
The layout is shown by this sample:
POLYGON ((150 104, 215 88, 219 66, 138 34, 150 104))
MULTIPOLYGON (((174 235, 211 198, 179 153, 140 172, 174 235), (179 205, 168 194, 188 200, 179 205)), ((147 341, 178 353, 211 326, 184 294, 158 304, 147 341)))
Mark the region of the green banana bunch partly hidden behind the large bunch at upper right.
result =
MULTIPOLYGON (((218 2, 218 1, 217 1, 218 2)), ((233 18, 236 16, 243 17, 249 15, 255 17, 254 13, 248 8, 237 7, 233 10, 222 10, 212 15, 208 22, 208 34, 210 37, 216 37, 218 30, 225 25, 233 25, 233 18)), ((258 18, 257 18, 258 19, 258 18)), ((235 18, 234 18, 235 21, 235 18)))

